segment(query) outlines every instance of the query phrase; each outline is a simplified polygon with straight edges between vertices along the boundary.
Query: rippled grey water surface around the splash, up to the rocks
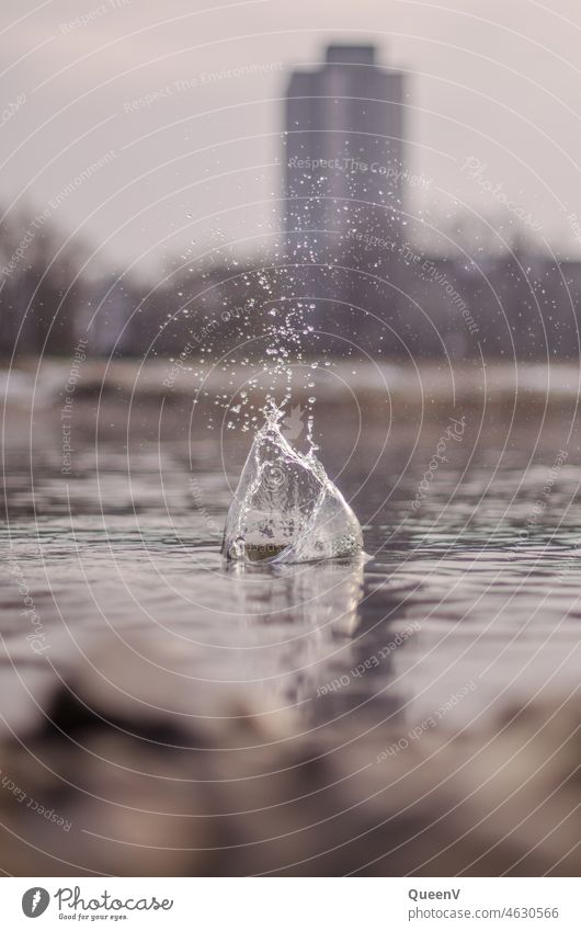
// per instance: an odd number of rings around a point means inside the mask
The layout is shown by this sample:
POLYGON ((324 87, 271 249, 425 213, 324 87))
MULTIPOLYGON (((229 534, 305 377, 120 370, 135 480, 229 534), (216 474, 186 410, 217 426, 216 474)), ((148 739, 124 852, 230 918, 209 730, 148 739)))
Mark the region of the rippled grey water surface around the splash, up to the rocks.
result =
POLYGON ((32 441, 30 410, 12 406, 7 725, 38 715, 78 651, 105 634, 132 647, 127 674, 145 701, 163 648, 183 683, 169 699, 180 714, 195 713, 192 677, 293 706, 310 727, 341 727, 346 713, 411 727, 446 703, 460 727, 570 691, 581 592, 573 407, 514 416, 511 405, 446 404, 398 419, 369 397, 356 416, 321 402, 320 456, 362 521, 366 555, 278 568, 227 567, 219 555, 249 434, 206 431, 185 402, 129 407, 113 396, 96 412, 88 396, 75 410, 68 476, 58 406, 38 400, 32 441))

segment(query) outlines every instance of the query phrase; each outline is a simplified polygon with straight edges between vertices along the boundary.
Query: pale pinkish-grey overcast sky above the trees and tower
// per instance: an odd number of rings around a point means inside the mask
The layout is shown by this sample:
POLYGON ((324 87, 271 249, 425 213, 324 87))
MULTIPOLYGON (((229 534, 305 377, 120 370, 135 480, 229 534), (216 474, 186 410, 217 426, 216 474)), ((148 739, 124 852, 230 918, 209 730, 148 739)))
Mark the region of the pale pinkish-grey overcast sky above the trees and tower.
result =
POLYGON ((122 266, 270 241, 286 71, 333 39, 409 75, 410 168, 430 181, 411 212, 445 227, 466 204, 506 236, 520 213, 534 241, 581 254, 579 0, 24 0, 0 21, 0 201, 122 266))

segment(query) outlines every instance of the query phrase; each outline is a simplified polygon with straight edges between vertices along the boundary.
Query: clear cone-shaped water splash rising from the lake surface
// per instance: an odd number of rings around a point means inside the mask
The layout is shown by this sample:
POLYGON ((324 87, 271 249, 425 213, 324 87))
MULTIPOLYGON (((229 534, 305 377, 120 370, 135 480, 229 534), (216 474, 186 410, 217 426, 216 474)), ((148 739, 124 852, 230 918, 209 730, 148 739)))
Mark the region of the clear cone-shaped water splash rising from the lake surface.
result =
POLYGON ((227 559, 306 563, 354 556, 360 522, 312 452, 294 450, 277 416, 259 430, 226 519, 227 559))

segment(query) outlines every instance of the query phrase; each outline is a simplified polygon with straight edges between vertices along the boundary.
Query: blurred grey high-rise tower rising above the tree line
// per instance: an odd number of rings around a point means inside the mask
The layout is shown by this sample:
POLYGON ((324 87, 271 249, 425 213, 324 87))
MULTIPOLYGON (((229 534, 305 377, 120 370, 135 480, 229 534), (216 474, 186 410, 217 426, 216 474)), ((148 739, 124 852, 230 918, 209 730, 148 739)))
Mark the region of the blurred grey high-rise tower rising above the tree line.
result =
MULTIPOLYGON (((286 227, 343 232, 376 205, 397 224, 403 195, 403 76, 371 45, 330 45, 316 71, 295 71, 286 96, 286 227), (391 213, 396 216, 392 217, 391 213)), ((372 230, 369 230, 372 231, 372 230)))

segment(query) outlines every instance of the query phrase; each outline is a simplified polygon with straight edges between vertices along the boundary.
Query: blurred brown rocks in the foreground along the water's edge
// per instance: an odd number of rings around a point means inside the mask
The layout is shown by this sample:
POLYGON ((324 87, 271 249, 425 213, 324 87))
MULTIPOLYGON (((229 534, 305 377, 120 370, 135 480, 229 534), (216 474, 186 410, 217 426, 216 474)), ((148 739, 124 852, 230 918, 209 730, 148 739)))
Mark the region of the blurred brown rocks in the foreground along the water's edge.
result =
MULTIPOLYGON (((3 871, 580 872, 579 703, 528 705, 469 736, 426 730, 377 754, 362 717, 305 733, 204 683, 183 683, 191 714, 164 711, 178 686, 162 667, 133 681, 110 644, 42 724, 0 748, 3 871)), ((384 729, 386 748, 402 737, 384 729)))

